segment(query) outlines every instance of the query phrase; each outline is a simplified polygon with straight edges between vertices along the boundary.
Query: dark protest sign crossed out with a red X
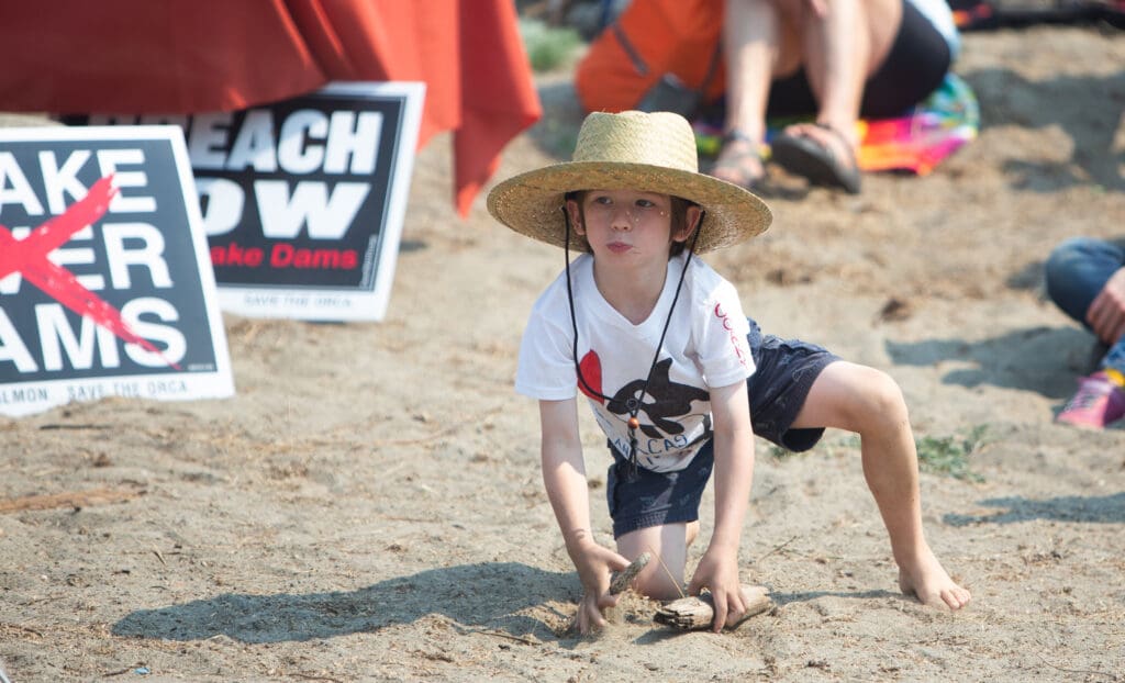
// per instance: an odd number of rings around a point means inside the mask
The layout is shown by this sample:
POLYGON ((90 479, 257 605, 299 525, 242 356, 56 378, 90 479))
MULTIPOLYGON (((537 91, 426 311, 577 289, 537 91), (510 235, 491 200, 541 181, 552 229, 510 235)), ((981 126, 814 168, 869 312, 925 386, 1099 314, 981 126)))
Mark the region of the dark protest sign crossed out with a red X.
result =
POLYGON ((173 126, 0 128, 0 413, 234 393, 173 126))

